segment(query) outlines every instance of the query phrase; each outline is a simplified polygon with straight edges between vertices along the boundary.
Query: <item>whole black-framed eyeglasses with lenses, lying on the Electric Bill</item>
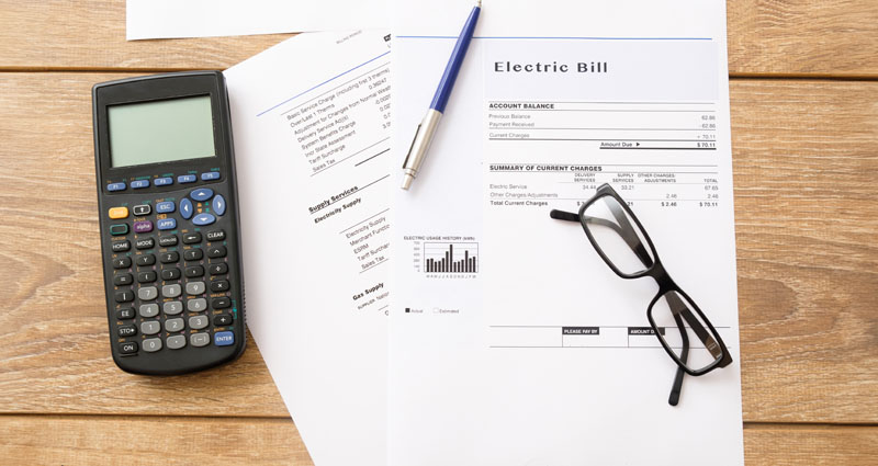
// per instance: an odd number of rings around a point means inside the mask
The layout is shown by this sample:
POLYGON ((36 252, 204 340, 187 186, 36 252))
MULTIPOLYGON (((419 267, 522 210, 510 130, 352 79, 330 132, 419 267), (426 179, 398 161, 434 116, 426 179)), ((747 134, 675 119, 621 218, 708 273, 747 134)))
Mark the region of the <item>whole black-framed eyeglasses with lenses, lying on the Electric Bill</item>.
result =
POLYGON ((553 209, 549 215, 578 221, 592 246, 617 275, 651 276, 658 284, 658 293, 646 308, 646 318, 662 348, 677 363, 669 405, 677 406, 679 401, 684 373, 705 375, 731 364, 732 355, 717 329, 667 274, 643 225, 609 184, 598 187, 578 214, 553 209))

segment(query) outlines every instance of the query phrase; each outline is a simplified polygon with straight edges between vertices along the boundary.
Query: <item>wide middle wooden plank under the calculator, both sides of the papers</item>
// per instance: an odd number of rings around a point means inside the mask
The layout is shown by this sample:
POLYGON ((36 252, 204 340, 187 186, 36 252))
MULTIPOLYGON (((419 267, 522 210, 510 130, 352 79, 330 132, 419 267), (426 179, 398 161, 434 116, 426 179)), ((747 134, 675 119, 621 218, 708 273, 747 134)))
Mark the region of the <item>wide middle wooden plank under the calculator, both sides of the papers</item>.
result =
MULTIPOLYGON (((90 88, 120 77, 0 73, 0 410, 286 417, 255 345, 184 377, 110 359, 90 88)), ((731 95, 744 419, 878 422, 878 82, 731 95)))

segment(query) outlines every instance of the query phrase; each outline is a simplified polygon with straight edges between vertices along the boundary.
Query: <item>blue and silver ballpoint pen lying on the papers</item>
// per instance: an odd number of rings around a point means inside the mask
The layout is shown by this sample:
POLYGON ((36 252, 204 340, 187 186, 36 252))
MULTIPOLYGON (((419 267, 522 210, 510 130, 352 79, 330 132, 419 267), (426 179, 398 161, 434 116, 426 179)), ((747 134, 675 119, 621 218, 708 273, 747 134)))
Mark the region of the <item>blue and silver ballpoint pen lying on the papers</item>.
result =
POLYGON ((458 43, 454 44, 454 50, 451 52, 451 57, 448 59, 448 65, 446 65, 446 72, 442 73, 439 88, 436 89, 430 110, 427 111, 427 115, 424 116, 415 132, 415 140, 412 141, 412 147, 408 149, 408 155, 403 162, 404 190, 408 190, 412 185, 412 181, 418 175, 420 164, 424 163, 424 158, 427 156, 427 149, 430 147, 432 136, 436 134, 437 126, 439 126, 439 120, 446 111, 451 89, 454 87, 454 80, 458 79, 458 71, 460 71, 460 66, 463 64, 463 57, 466 56, 466 48, 470 47, 470 39, 473 38, 480 11, 482 11, 482 0, 476 1, 470 18, 463 24, 458 43))

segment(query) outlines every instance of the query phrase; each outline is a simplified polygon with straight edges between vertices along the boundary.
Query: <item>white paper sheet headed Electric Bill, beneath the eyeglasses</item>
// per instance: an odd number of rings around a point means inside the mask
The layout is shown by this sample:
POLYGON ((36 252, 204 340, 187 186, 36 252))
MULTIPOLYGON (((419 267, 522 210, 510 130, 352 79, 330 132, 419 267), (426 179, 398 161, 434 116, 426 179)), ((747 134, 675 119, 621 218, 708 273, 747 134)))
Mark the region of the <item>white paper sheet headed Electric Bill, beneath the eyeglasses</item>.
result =
MULTIPOLYGON (((471 2, 393 7, 402 160, 471 2)), ((743 464, 732 202, 723 2, 486 2, 421 172, 394 196, 390 464, 743 464), (677 407, 676 365, 629 334, 649 327, 654 282, 620 279, 549 217, 604 182, 734 360, 687 376, 677 407), (425 272, 449 246, 475 272, 425 272)))

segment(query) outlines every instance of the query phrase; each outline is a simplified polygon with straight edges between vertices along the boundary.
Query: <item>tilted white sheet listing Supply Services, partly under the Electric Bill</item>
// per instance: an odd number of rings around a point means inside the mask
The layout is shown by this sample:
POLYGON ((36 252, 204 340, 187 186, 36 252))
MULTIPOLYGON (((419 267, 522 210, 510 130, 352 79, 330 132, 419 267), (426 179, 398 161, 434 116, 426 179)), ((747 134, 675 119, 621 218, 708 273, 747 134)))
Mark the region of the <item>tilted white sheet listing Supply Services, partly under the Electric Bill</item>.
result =
POLYGON ((390 44, 302 34, 225 71, 247 326, 315 464, 386 464, 390 44))

